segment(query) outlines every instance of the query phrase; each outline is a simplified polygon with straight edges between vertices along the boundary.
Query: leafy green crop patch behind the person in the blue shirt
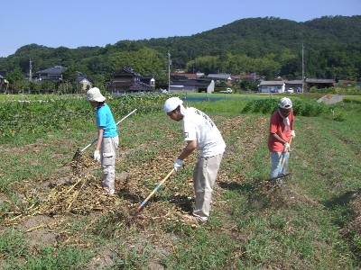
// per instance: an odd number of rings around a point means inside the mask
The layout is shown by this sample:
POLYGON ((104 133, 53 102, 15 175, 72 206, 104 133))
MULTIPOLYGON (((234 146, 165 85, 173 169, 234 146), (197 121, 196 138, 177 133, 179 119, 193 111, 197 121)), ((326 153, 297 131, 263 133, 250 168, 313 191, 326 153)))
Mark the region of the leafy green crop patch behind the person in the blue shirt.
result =
MULTIPOLYGON (((137 113, 161 112, 169 95, 143 94, 108 97, 116 119, 137 109, 137 113)), ((26 134, 42 136, 51 130, 69 129, 94 120, 94 109, 85 98, 9 101, 0 105, 0 143, 26 134)), ((35 136, 35 137, 37 137, 35 136)))

